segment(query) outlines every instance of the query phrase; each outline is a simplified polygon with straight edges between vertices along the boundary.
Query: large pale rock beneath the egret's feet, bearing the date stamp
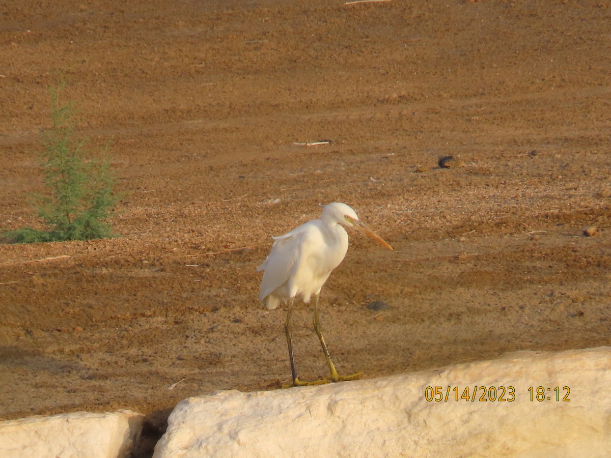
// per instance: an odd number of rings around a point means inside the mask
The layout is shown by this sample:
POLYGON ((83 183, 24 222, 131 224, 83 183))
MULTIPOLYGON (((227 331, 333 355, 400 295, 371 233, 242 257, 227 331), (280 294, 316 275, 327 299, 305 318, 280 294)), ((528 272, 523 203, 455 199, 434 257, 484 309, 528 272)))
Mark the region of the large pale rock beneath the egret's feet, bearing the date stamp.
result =
POLYGON ((600 347, 318 387, 221 391, 181 401, 154 456, 609 456, 610 369, 611 347, 600 347), (447 401, 427 401, 427 387, 441 387, 447 401), (467 387, 469 397, 475 387, 486 391, 465 401, 467 387), (491 387, 497 398, 504 387, 507 400, 480 401, 491 387))

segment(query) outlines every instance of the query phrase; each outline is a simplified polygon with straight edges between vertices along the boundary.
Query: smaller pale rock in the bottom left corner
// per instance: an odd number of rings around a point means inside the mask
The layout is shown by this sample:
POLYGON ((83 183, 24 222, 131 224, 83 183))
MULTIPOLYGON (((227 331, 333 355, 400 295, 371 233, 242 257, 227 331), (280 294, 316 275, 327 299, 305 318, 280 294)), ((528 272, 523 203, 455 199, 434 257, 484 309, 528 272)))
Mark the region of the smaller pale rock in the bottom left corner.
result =
POLYGON ((0 456, 125 457, 142 431, 143 416, 130 410, 75 412, 0 421, 0 456))

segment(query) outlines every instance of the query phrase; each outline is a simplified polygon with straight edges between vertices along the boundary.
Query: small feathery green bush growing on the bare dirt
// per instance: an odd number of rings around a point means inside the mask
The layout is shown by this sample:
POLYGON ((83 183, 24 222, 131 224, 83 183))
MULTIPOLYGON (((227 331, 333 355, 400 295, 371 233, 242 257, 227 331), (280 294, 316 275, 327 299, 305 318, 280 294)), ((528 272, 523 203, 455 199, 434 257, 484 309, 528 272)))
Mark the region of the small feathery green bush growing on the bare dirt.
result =
MULTIPOLYGON (((73 135, 73 103, 59 100, 64 82, 51 86, 53 127, 43 134, 42 167, 46 195, 38 198, 38 216, 45 230, 21 228, 5 233, 4 241, 15 243, 100 239, 112 236, 107 222, 116 199, 115 183, 108 159, 86 160, 86 140, 73 135)), ((106 148, 108 150, 108 148, 106 148)))

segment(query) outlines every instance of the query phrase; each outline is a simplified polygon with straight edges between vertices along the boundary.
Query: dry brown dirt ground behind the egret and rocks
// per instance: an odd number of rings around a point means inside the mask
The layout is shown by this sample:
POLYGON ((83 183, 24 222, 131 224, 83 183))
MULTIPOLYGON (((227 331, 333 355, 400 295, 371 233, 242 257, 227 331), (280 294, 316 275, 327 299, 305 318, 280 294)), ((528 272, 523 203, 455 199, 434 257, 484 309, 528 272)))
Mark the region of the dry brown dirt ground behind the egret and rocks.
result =
MULTIPOLYGON (((323 288, 340 373, 611 344, 609 2, 24 0, 0 18, 0 227, 39 224, 56 69, 79 135, 112 139, 120 192, 116 238, 0 245, 1 418, 133 409, 155 435, 180 399, 288 383, 285 308, 260 308, 255 268, 334 201, 394 247, 351 233, 323 288)), ((311 320, 296 310, 304 379, 327 373, 311 320)))

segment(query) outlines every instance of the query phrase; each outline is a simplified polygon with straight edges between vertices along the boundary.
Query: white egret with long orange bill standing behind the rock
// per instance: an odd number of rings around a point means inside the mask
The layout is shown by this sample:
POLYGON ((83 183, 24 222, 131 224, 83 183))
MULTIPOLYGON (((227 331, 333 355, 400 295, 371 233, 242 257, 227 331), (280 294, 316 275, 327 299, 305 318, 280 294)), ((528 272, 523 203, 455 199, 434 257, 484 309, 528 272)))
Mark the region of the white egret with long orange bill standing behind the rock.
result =
POLYGON ((257 267, 258 272, 264 271, 259 293, 262 304, 272 309, 278 307, 280 302, 288 302, 285 333, 293 385, 321 383, 321 381, 302 382, 297 376, 291 340, 291 312, 296 297, 301 297, 303 302, 308 304, 312 295, 314 296, 314 330, 323 347, 324 357, 331 371, 331 380, 338 382, 360 376, 360 373, 348 377, 340 377, 337 374, 327 345, 324 343, 318 319, 320 290, 331 271, 342 262, 348 251, 348 233, 344 227, 356 228, 392 250, 386 241, 359 221, 352 208, 345 203, 334 202, 324 206, 321 219, 309 221, 284 235, 273 237, 274 244, 268 257, 257 267))

